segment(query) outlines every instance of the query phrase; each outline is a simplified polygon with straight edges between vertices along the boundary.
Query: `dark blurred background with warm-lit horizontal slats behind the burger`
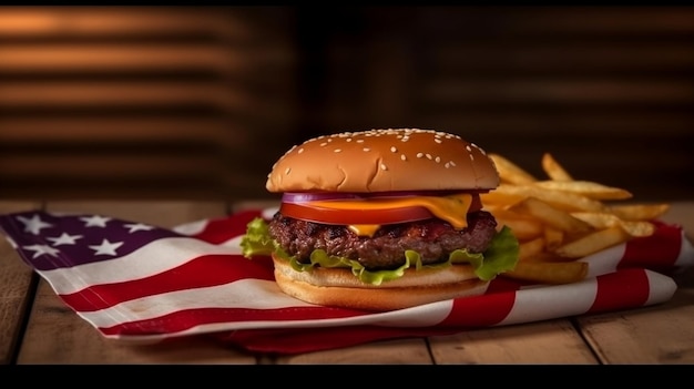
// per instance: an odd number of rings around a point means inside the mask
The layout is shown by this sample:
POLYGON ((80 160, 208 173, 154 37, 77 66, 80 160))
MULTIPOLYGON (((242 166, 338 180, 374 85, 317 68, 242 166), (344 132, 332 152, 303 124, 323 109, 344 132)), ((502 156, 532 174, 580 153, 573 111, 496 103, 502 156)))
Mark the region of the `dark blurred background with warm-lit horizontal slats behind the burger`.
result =
POLYGON ((2 7, 0 198, 274 198, 307 137, 458 133, 694 199, 694 8, 2 7))

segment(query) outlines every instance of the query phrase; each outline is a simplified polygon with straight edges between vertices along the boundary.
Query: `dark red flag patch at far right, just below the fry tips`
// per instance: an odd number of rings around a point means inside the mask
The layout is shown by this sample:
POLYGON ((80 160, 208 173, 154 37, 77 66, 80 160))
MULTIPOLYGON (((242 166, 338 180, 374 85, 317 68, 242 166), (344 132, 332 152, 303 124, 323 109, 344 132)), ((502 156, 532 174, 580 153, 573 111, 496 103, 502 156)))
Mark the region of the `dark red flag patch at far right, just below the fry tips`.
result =
POLYGON ((661 273, 672 270, 682 249, 682 227, 662 222, 653 223, 656 226, 653 235, 626 243, 618 268, 645 267, 661 273))

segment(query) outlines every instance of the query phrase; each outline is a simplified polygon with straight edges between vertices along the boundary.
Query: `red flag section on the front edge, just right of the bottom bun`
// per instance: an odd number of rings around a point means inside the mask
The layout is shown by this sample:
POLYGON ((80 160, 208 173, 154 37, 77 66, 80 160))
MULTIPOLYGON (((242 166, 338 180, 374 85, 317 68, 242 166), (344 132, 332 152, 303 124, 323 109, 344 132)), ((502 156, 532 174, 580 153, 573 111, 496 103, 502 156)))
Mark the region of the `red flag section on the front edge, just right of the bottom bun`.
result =
POLYGON ((486 327, 506 318, 513 303, 516 291, 462 297, 453 300, 451 313, 438 326, 442 327, 486 327))

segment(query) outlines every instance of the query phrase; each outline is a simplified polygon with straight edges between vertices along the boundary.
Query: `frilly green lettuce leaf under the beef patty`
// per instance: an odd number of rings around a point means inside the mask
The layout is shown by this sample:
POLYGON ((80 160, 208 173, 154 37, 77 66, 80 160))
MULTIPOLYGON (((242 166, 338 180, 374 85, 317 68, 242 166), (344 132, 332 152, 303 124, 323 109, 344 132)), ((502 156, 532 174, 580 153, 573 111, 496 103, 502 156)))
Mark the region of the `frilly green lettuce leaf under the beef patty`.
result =
POLYGON ((316 249, 310 254, 310 263, 302 264, 296 257, 285 253, 277 242, 269 236, 267 223, 256 217, 247 225, 246 235, 241 240, 242 253, 246 258, 255 255, 271 255, 289 260, 292 267, 297 272, 310 272, 315 266, 322 267, 344 267, 350 268, 351 273, 363 283, 380 285, 384 281, 392 280, 401 277, 405 269, 414 266, 420 268, 440 268, 451 266, 452 264, 470 264, 474 274, 483 280, 491 280, 497 275, 512 270, 518 262, 519 244, 512 231, 508 226, 503 226, 492 238, 489 247, 483 254, 468 253, 466 249, 457 249, 452 252, 447 262, 423 265, 421 256, 415 250, 405 252, 405 264, 395 269, 386 270, 368 270, 359 262, 328 255, 324 249, 316 249))

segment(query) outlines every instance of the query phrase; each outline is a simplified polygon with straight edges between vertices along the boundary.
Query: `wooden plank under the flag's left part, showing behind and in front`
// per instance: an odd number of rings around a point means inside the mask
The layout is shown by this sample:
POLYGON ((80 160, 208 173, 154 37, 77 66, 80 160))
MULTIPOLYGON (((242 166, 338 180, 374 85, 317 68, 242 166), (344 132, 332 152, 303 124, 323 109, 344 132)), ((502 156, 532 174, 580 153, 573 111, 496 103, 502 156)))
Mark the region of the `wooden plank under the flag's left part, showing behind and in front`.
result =
MULTIPOLYGON (((55 202, 48 211, 86 212, 172 227, 227 213, 223 202, 55 202)), ((204 337, 131 345, 101 337, 41 280, 18 364, 255 364, 204 337), (40 313, 40 314, 39 314, 40 313)))

